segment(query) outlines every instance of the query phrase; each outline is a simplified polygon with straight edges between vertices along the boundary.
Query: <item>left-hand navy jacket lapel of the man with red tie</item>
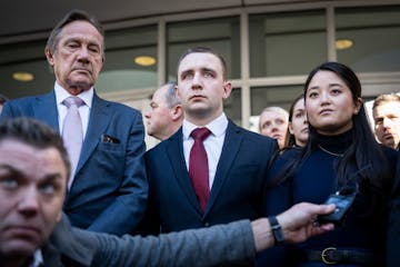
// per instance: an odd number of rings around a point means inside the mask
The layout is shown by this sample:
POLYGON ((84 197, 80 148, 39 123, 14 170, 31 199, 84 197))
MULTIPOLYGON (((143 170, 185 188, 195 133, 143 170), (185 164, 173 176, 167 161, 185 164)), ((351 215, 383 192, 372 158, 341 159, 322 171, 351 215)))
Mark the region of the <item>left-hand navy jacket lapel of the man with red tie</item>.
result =
POLYGON ((174 171, 174 177, 178 180, 179 186, 187 196, 189 202, 200 212, 200 204, 196 197, 194 189, 192 187, 189 172, 184 162, 183 156, 183 140, 182 140, 182 128, 178 130, 167 142, 167 154, 174 171), (178 157, 178 159, 177 159, 178 157))

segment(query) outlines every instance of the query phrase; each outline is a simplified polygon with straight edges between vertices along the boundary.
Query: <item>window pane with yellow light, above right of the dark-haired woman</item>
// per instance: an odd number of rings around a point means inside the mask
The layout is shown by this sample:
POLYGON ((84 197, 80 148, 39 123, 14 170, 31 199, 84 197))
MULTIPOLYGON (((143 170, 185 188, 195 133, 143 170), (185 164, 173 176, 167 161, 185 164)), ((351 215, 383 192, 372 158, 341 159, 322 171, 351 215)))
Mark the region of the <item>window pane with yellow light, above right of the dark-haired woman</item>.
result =
POLYGON ((338 61, 359 72, 400 70, 400 6, 338 9, 334 21, 338 61))

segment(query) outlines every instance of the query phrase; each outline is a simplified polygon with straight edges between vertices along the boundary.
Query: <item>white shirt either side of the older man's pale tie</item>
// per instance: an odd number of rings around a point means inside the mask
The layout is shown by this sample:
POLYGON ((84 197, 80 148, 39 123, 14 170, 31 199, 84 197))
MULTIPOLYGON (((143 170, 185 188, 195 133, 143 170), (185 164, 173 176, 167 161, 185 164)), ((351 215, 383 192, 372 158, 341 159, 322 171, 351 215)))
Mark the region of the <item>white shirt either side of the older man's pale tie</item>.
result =
MULTIPOLYGON (((67 116, 67 111, 68 111, 67 106, 63 105, 62 101, 66 98, 71 97, 71 95, 66 89, 63 89, 60 85, 58 85, 57 82, 54 85, 54 93, 56 93, 57 110, 59 113, 59 118, 58 118, 59 129, 60 129, 60 132, 62 132, 63 120, 64 120, 64 118, 67 116)), ((79 107, 79 115, 82 120, 83 139, 84 139, 87 130, 88 130, 89 113, 90 113, 90 109, 92 106, 93 95, 94 95, 94 90, 93 90, 93 88, 90 88, 89 90, 83 91, 77 96, 80 99, 82 99, 84 102, 84 105, 79 107)))

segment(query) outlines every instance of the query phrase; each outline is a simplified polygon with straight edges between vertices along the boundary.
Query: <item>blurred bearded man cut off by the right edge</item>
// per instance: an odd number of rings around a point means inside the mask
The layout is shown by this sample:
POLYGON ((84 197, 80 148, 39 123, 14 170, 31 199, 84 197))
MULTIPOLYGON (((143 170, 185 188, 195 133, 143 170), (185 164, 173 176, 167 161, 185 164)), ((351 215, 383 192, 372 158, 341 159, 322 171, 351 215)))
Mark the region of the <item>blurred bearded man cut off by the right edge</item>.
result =
POLYGON ((400 141, 400 96, 380 95, 372 106, 374 134, 384 146, 399 150, 400 141))

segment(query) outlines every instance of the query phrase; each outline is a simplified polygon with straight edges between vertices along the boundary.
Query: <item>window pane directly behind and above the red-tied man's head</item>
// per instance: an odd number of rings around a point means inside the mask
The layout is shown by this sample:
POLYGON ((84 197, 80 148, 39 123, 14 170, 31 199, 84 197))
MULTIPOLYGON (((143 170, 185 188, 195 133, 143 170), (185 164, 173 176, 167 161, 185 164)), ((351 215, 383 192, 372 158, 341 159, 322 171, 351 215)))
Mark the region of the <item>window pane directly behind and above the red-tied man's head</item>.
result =
POLYGON ((167 40, 167 80, 177 80, 178 60, 193 47, 212 48, 227 61, 228 79, 240 77, 239 17, 169 23, 167 40))

